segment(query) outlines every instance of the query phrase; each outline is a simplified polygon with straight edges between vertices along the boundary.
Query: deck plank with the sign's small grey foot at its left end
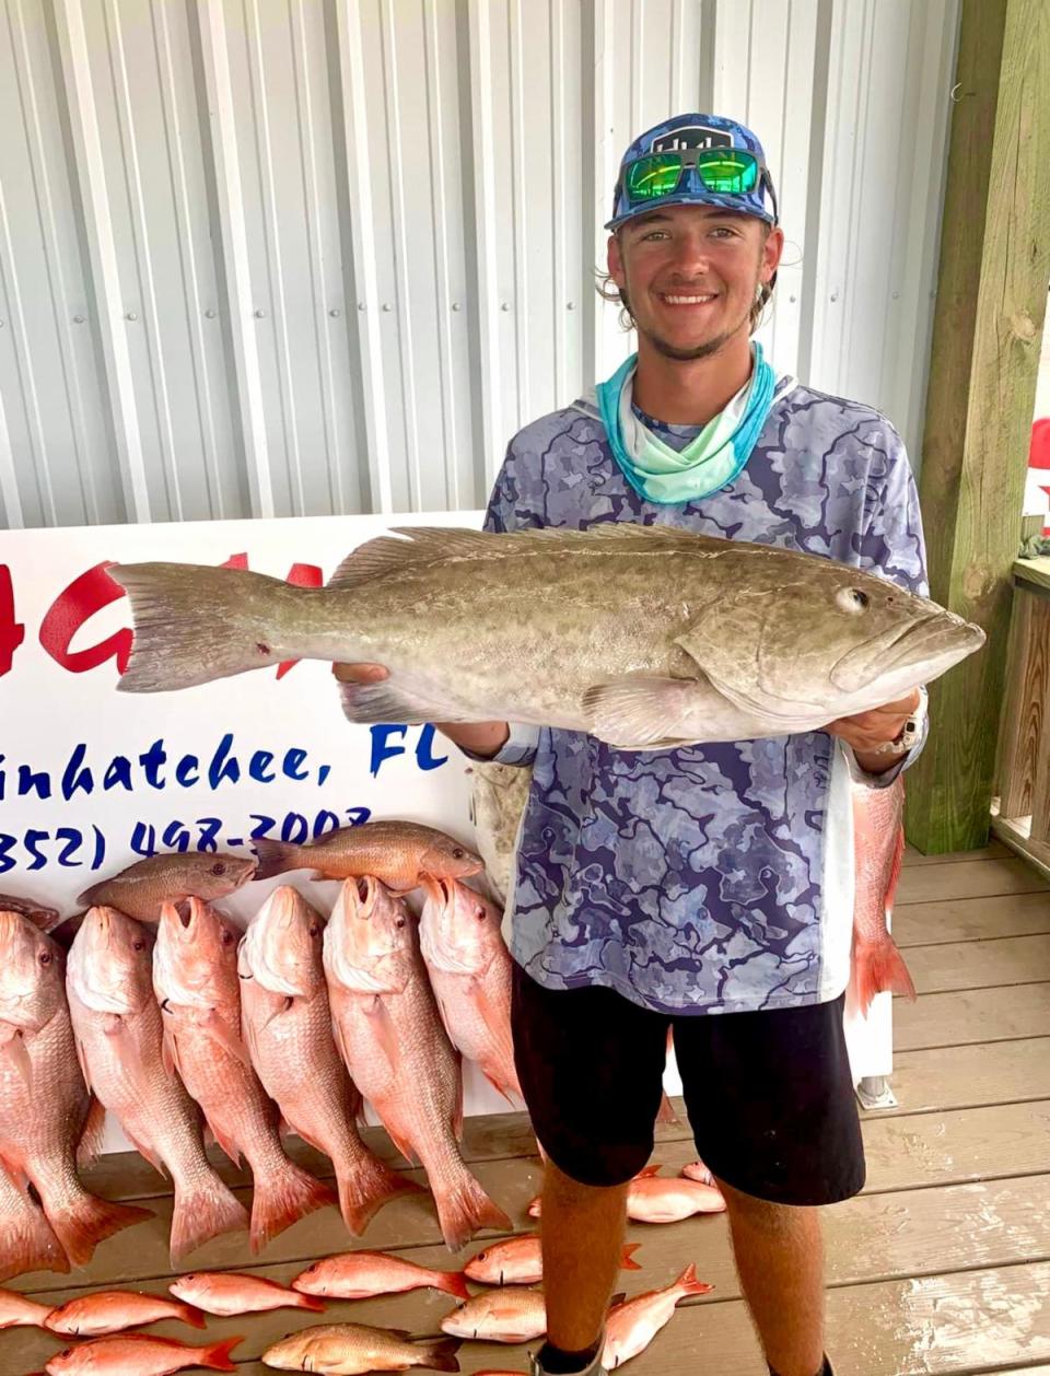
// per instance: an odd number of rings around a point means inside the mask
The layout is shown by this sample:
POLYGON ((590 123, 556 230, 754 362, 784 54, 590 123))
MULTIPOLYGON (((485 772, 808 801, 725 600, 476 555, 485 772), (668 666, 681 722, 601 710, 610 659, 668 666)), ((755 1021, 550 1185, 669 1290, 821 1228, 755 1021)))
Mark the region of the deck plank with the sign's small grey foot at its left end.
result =
POLYGON ((893 1093, 899 1106, 878 1109, 879 1116, 1050 1098, 1050 1036, 901 1051, 893 1060, 893 1093))

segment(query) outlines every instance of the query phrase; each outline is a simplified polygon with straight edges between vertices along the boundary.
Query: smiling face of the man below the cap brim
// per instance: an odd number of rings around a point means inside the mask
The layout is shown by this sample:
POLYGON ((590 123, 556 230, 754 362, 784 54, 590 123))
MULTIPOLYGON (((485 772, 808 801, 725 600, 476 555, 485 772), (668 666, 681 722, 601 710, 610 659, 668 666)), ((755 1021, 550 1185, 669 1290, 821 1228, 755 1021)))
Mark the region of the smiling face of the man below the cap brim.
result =
POLYGON ((713 205, 667 205, 608 241, 608 271, 626 288, 639 334, 667 358, 717 354, 750 330, 760 282, 776 271, 783 231, 713 205))

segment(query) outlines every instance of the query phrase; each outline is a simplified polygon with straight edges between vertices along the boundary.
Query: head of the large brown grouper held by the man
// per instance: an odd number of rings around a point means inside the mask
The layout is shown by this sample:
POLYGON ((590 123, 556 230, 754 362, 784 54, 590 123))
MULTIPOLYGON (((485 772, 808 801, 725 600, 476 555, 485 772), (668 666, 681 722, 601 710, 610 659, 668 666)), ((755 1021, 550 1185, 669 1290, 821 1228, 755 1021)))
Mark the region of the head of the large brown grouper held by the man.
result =
POLYGON ((797 564, 776 599, 762 582, 722 597, 681 644, 729 700, 786 731, 815 710, 833 721, 893 702, 984 644, 980 626, 846 564, 797 564))

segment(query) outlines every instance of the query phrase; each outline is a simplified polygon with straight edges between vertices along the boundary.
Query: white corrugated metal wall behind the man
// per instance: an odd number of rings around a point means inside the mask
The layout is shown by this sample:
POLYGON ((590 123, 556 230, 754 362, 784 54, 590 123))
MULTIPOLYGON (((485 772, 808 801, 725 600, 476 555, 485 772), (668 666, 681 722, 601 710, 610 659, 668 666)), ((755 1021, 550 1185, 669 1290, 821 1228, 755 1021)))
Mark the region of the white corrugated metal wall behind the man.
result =
POLYGON ((473 508, 629 347, 622 149, 764 139, 762 337, 921 432, 958 0, 0 0, 0 526, 473 508))

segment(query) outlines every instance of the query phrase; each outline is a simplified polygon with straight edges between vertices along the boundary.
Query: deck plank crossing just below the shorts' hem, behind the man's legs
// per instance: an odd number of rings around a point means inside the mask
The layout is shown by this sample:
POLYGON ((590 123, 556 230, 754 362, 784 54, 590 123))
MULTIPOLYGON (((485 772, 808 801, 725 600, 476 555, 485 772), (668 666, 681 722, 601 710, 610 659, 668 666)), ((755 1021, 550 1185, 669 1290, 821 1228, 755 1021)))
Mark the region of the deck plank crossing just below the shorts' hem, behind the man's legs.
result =
MULTIPOLYGON (((1050 1255, 1050 1176, 859 1197, 827 1211, 824 1236, 827 1282, 833 1289, 1043 1260, 1050 1255)), ((670 1226, 633 1225, 630 1240, 640 1244, 636 1260, 643 1271, 622 1274, 628 1293, 663 1285, 692 1262, 700 1278, 714 1285, 700 1303, 721 1307, 739 1299, 724 1216, 689 1219, 670 1226)), ((468 1248, 467 1255, 478 1249, 476 1245, 468 1248)), ((422 1266, 451 1269, 449 1254, 442 1248, 418 1248, 403 1255, 422 1266)), ((289 1284, 299 1269, 266 1266, 255 1269, 255 1273, 289 1284)), ((144 1288, 164 1293, 165 1285, 153 1282, 144 1288)), ((483 1288, 476 1287, 479 1291, 483 1288)), ((63 1303, 78 1293, 83 1289, 66 1287, 39 1292, 33 1298, 41 1303, 63 1303)), ((417 1291, 374 1300, 333 1302, 323 1321, 436 1333, 440 1318, 454 1306, 456 1300, 444 1293, 417 1291)), ((283 1333, 317 1322, 317 1315, 296 1310, 250 1315, 248 1322, 245 1315, 215 1318, 208 1325, 208 1337, 245 1333, 238 1355, 253 1358, 283 1333)), ((160 1333, 162 1329, 158 1325, 156 1331, 160 1333)), ((164 1332, 187 1337, 178 1324, 164 1325, 164 1332)), ((39 1331, 17 1329, 6 1342, 0 1337, 0 1355, 15 1369, 39 1366, 54 1351, 54 1337, 39 1331)))

